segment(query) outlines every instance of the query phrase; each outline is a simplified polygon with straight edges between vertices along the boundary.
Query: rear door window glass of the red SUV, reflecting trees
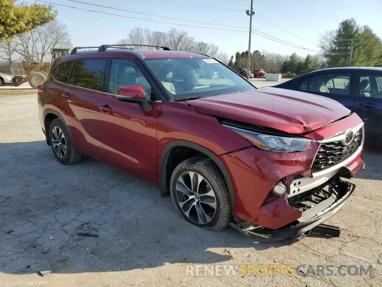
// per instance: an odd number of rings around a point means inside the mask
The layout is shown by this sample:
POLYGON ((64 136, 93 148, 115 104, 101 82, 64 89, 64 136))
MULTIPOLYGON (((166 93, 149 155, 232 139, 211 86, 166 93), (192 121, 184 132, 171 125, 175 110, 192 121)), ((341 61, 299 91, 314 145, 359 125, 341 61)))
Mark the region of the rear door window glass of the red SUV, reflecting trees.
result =
POLYGON ((106 63, 106 58, 78 60, 74 71, 74 86, 99 91, 106 63))

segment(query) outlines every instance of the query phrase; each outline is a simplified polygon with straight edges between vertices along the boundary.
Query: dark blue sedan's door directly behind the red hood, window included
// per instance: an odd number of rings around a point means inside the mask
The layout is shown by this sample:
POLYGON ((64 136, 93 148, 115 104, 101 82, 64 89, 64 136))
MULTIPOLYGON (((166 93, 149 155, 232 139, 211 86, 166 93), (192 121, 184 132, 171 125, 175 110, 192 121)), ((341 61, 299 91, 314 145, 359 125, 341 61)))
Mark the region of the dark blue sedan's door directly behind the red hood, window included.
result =
POLYGON ((350 72, 320 73, 305 78, 299 83, 298 90, 324 96, 340 102, 346 108, 354 109, 353 74, 350 72))

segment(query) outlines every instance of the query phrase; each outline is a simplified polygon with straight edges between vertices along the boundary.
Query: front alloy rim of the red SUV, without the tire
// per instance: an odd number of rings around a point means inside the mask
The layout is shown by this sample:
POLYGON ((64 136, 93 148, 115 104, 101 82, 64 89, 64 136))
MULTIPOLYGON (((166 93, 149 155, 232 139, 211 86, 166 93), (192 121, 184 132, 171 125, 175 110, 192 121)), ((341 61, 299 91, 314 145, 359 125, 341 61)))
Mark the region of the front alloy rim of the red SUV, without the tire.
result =
POLYGON ((181 211, 198 224, 211 222, 216 214, 216 195, 208 181, 199 173, 187 171, 176 181, 176 200, 181 211))

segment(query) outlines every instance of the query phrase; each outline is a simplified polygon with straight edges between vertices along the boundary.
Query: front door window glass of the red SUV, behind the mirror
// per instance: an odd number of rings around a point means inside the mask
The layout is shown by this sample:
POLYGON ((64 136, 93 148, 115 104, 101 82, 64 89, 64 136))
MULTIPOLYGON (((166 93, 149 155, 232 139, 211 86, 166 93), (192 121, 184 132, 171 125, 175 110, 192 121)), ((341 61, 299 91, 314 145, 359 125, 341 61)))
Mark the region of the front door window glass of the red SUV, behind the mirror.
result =
POLYGON ((137 64, 130 59, 113 59, 109 72, 108 90, 113 95, 124 86, 141 86, 147 100, 155 100, 151 86, 137 64))

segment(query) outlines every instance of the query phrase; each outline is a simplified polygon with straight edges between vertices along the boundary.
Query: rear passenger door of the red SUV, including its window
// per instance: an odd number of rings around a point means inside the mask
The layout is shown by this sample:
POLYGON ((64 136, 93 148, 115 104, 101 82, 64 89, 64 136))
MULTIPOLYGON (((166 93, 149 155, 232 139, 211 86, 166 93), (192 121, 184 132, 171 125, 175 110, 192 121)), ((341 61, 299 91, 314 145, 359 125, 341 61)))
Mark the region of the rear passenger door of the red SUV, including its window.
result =
POLYGON ((102 147, 97 130, 97 107, 107 58, 76 60, 63 98, 68 105, 66 124, 75 148, 102 160, 102 147))

